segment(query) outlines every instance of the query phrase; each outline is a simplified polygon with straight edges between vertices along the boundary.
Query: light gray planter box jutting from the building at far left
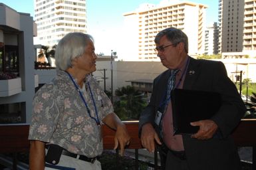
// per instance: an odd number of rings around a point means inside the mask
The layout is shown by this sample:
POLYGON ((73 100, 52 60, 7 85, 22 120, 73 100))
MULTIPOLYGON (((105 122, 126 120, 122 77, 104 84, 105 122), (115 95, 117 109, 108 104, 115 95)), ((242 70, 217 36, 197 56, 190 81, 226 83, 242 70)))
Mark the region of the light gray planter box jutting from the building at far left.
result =
POLYGON ((0 80, 0 97, 12 96, 21 92, 21 78, 0 80))

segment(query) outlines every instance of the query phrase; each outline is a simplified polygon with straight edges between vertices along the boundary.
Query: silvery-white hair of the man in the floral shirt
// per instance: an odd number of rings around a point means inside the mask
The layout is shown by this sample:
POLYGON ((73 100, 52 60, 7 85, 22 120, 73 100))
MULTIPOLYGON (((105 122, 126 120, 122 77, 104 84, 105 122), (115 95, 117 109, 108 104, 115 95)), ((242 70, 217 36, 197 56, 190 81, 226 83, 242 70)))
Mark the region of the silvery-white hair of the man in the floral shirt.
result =
POLYGON ((86 46, 94 41, 91 35, 84 33, 68 33, 59 41, 55 50, 55 64, 60 70, 71 67, 71 61, 84 54, 86 46))

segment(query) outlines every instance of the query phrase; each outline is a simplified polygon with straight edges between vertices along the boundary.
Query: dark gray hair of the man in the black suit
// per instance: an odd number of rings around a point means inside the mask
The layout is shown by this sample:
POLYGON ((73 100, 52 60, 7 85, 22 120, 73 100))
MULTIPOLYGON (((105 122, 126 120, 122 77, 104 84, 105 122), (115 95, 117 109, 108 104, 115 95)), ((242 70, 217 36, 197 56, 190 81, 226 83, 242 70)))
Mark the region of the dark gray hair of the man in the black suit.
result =
POLYGON ((184 42, 185 51, 188 54, 188 36, 181 31, 180 29, 176 29, 174 27, 170 27, 168 29, 164 29, 160 31, 155 37, 155 43, 159 44, 160 39, 166 35, 167 39, 173 44, 178 44, 179 42, 184 42))

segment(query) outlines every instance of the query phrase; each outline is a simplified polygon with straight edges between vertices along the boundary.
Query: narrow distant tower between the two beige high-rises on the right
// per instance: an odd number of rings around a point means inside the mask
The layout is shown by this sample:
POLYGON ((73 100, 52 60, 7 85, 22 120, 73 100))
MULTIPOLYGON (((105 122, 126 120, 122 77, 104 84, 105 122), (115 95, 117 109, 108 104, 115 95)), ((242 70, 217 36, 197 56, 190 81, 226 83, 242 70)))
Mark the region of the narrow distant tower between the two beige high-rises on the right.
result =
POLYGON ((213 23, 205 29, 205 54, 218 54, 219 29, 217 23, 213 23))

